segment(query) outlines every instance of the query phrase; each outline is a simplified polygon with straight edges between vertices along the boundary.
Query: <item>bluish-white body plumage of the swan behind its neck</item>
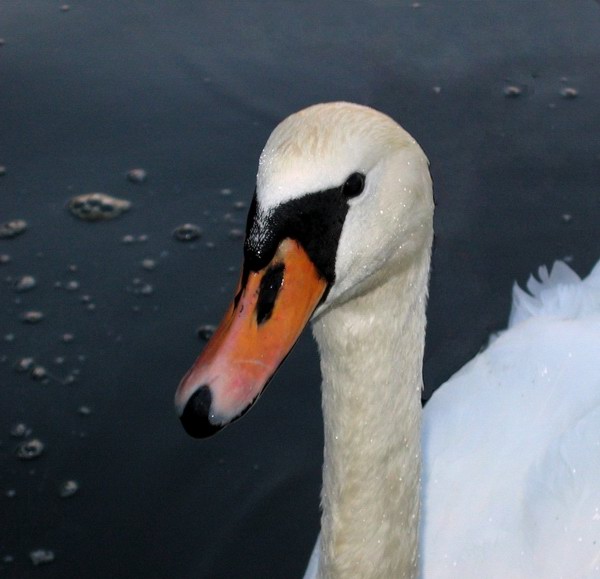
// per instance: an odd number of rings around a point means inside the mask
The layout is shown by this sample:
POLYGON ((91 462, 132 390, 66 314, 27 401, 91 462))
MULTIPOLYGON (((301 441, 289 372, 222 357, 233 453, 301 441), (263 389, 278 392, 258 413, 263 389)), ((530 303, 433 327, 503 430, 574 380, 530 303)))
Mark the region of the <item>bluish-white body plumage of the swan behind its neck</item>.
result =
POLYGON ((600 262, 539 277, 425 407, 424 578, 600 576, 600 262))

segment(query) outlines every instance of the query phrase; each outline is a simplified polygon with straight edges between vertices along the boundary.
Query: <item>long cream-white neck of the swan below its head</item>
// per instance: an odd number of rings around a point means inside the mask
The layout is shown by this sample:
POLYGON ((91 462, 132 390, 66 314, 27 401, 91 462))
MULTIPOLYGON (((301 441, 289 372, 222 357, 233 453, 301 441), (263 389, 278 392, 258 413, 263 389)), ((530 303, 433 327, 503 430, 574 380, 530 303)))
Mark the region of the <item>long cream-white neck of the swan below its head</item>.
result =
POLYGON ((323 376, 321 578, 417 574, 429 251, 313 324, 323 376))

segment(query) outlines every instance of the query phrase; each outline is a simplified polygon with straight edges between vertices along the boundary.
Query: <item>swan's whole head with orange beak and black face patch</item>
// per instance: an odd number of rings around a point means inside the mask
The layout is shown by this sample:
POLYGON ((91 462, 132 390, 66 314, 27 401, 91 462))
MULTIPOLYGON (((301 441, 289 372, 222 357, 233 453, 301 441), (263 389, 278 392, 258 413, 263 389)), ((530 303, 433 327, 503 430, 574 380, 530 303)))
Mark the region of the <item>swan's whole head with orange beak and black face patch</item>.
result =
POLYGON ((327 103, 281 122, 260 156, 235 299, 175 395, 186 431, 209 436, 248 410, 311 317, 429 251, 432 216, 427 158, 390 117, 327 103))

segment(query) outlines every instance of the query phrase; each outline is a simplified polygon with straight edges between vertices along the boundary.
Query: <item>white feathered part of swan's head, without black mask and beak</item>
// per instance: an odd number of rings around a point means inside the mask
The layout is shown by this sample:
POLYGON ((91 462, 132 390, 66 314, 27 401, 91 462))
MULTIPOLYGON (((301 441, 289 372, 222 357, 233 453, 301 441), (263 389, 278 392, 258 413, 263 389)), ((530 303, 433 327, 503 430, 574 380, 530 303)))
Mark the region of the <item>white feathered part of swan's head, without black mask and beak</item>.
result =
MULTIPOLYGON (((342 185, 355 172, 365 190, 349 200, 327 302, 366 291, 365 280, 430 243, 433 198, 428 162, 393 119, 338 102, 311 106, 281 122, 260 156, 259 223, 281 204, 342 185)), ((259 227, 260 229, 260 227, 259 227)), ((381 272, 384 274, 384 272, 381 272)), ((375 276, 377 277, 377 276, 375 276)))

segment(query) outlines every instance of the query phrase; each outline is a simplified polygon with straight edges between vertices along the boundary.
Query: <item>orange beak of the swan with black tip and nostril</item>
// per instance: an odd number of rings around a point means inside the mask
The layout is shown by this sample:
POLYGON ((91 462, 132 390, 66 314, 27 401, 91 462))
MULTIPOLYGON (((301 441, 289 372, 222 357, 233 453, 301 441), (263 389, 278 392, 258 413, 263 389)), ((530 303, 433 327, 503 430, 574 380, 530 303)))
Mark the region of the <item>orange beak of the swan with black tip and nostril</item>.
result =
POLYGON ((175 394, 181 422, 196 438, 214 434, 252 406, 327 288, 306 252, 291 239, 280 243, 265 268, 244 277, 175 394))

